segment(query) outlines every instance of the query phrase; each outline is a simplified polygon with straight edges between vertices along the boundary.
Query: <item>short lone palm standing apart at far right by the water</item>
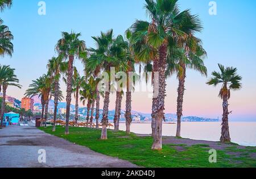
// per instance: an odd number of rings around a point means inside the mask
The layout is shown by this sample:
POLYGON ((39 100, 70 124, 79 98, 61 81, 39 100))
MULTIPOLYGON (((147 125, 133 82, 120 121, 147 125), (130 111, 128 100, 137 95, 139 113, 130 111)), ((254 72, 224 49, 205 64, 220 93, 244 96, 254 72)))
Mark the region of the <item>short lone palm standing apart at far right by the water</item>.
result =
POLYGON ((207 82, 208 85, 217 86, 222 84, 220 94, 218 95, 222 100, 223 107, 223 117, 222 117, 222 128, 221 128, 221 142, 230 142, 229 135, 229 112, 228 110, 228 99, 230 98, 230 90, 240 90, 242 88, 242 77, 237 74, 237 68, 234 67, 224 67, 218 64, 220 68, 220 73, 214 71, 212 73, 212 78, 207 82))

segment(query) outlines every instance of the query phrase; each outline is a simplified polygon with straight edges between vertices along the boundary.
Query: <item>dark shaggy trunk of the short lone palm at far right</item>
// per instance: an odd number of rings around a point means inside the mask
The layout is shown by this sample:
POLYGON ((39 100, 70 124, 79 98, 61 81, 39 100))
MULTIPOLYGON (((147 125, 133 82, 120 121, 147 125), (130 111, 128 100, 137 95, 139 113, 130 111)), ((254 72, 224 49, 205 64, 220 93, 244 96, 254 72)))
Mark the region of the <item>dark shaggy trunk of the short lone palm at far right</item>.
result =
POLYGON ((228 111, 228 95, 224 95, 223 97, 223 118, 221 124, 221 142, 230 142, 230 134, 229 134, 229 111, 228 111))

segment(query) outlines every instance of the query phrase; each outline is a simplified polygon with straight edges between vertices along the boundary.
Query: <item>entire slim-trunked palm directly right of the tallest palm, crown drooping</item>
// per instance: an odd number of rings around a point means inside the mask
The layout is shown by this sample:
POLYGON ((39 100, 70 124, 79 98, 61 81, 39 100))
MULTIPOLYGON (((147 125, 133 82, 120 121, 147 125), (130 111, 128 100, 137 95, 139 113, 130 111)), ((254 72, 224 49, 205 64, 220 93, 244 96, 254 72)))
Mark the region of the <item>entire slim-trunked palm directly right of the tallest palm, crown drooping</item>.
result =
POLYGON ((180 137, 181 116, 183 115, 183 96, 185 91, 185 78, 187 68, 195 69, 203 76, 207 76, 207 68, 204 65, 204 58, 207 56, 201 40, 194 36, 189 36, 181 43, 175 41, 168 49, 167 55, 167 76, 177 73, 179 87, 177 88, 177 130, 176 137, 180 137))

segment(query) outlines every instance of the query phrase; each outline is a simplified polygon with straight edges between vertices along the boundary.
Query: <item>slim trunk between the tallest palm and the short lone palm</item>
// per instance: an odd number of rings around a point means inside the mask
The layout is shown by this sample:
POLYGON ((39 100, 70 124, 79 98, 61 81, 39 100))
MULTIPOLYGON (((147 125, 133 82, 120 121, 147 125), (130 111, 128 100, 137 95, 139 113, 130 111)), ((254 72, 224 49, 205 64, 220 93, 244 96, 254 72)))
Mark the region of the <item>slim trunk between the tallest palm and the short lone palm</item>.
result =
POLYGON ((183 74, 179 77, 179 88, 177 89, 177 130, 176 130, 176 137, 180 137, 180 128, 181 128, 181 116, 183 111, 183 96, 185 91, 185 64, 181 64, 183 68, 183 74))

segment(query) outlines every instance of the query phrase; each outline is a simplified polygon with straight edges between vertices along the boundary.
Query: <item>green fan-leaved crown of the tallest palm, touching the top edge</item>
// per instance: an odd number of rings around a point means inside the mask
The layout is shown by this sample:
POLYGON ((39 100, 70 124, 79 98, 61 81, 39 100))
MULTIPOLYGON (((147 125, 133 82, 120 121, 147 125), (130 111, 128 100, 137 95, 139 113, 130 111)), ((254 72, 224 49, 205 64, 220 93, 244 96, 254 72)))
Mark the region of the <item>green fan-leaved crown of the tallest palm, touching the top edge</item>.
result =
POLYGON ((184 38, 187 34, 201 31, 201 22, 197 16, 190 15, 189 10, 180 13, 177 0, 146 2, 145 7, 153 24, 153 30, 147 35, 147 43, 151 47, 158 49, 161 45, 168 44, 170 38, 184 38))

